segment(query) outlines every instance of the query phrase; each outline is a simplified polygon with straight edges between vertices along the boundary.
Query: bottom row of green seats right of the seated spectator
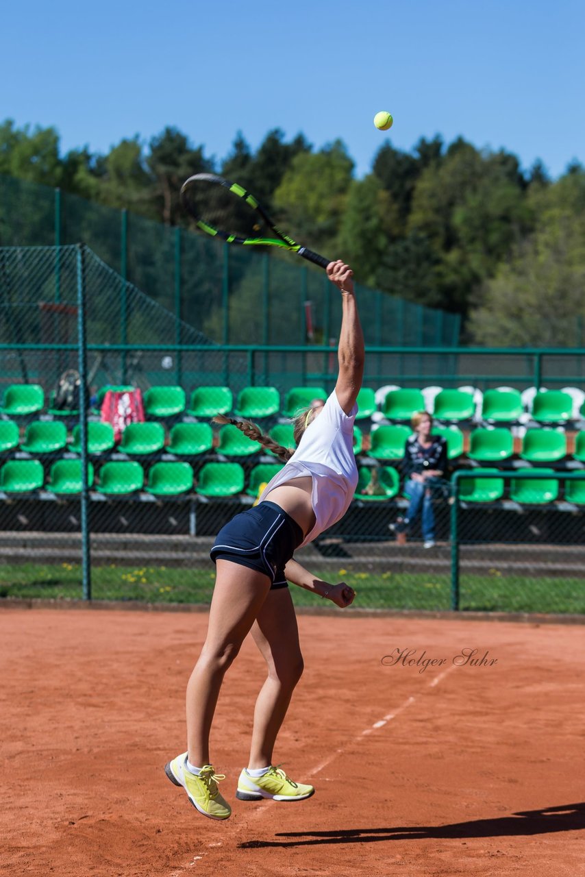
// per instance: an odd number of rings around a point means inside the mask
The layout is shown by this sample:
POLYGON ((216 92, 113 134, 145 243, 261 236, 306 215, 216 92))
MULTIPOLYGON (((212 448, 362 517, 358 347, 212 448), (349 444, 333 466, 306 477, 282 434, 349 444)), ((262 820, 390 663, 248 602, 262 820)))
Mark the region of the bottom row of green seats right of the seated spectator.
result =
MULTIPOLYGON (((473 469, 469 476, 459 482, 460 499, 467 503, 497 503, 503 499, 504 480, 497 477, 497 469, 473 469), (478 474, 494 477, 478 478, 478 474)), ((524 478, 510 479, 510 500, 522 505, 544 505, 559 498, 560 480, 554 477, 554 469, 535 469, 524 478), (533 478, 534 474, 549 474, 550 478, 533 478)), ((585 505, 585 473, 563 479, 567 503, 585 505)))

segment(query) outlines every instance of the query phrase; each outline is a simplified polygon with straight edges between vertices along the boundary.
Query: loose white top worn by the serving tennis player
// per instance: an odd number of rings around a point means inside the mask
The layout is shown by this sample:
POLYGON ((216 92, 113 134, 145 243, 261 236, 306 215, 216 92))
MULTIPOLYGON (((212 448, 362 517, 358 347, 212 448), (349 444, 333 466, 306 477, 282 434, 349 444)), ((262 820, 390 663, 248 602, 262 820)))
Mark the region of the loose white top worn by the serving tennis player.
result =
POLYGON ((358 406, 354 404, 351 414, 346 414, 333 390, 321 413, 303 432, 295 453, 260 495, 261 503, 271 490, 287 481, 302 475, 312 477, 311 503, 316 522, 299 548, 339 521, 352 502, 358 484, 353 454, 353 421, 357 413, 358 406))

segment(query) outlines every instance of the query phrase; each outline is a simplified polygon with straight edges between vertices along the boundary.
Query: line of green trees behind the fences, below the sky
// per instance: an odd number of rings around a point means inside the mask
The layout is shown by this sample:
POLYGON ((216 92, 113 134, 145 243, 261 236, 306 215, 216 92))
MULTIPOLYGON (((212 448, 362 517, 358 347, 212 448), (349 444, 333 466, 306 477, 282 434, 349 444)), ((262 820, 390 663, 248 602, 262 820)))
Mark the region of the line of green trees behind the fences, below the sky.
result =
POLYGON ((54 127, 0 124, 0 174, 61 186, 166 225, 189 227, 179 203, 191 174, 240 182, 308 246, 342 255, 356 279, 459 313, 476 344, 581 344, 585 319, 585 169, 553 181, 503 149, 463 138, 421 138, 410 152, 389 139, 357 178, 341 140, 315 149, 268 132, 253 151, 238 134, 223 160, 168 126, 147 143, 107 154, 62 154, 54 127))

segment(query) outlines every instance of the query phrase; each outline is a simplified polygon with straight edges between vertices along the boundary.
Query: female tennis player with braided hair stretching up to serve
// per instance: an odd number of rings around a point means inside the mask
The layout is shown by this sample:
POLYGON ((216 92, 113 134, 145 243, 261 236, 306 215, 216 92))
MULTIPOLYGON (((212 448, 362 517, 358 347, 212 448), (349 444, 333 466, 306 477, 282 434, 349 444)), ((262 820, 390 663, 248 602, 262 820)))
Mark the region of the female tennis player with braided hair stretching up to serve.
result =
POLYGON ((293 782, 273 765, 276 735, 303 673, 296 615, 288 581, 343 608, 355 592, 344 582, 329 584, 293 560, 296 548, 345 515, 358 482, 353 455, 356 397, 364 367, 364 340, 355 302, 353 272, 338 260, 327 275, 341 291, 339 375, 325 405, 315 401, 296 418, 296 451, 278 446, 248 421, 235 423, 250 438, 273 450, 286 465, 270 481, 252 509, 232 518, 211 549, 217 576, 207 638, 187 687, 188 752, 165 766, 168 779, 182 786, 189 801, 211 819, 227 819, 232 809, 218 791, 210 763, 210 727, 225 672, 246 634, 268 665, 268 678, 256 701, 248 766, 236 797, 242 801, 301 801, 312 786, 293 782))

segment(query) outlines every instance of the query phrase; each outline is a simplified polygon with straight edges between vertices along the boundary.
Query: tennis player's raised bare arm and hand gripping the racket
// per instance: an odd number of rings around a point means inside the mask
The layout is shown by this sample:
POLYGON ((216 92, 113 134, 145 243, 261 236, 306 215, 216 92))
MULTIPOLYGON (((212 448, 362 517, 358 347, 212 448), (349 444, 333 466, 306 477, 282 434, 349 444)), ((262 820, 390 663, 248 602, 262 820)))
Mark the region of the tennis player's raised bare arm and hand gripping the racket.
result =
POLYGON ((353 289, 353 271, 337 260, 327 266, 329 279, 341 291, 341 332, 339 333, 339 375, 335 385, 339 404, 349 414, 360 392, 364 373, 365 348, 360 315, 353 289))

